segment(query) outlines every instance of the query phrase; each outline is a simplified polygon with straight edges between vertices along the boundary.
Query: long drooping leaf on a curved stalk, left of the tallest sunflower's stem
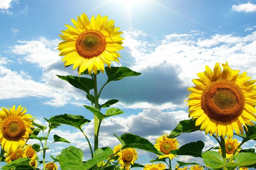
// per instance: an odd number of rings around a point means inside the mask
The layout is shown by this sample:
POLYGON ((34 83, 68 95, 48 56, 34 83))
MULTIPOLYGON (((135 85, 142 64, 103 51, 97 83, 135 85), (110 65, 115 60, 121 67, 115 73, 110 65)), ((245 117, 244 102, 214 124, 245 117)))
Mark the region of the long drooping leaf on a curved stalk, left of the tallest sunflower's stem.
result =
POLYGON ((81 115, 61 114, 57 116, 52 116, 48 120, 48 122, 70 125, 78 128, 79 130, 82 130, 81 127, 84 124, 89 123, 90 120, 85 119, 84 116, 81 115))

